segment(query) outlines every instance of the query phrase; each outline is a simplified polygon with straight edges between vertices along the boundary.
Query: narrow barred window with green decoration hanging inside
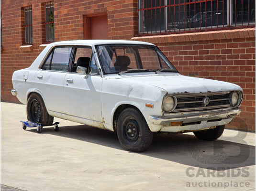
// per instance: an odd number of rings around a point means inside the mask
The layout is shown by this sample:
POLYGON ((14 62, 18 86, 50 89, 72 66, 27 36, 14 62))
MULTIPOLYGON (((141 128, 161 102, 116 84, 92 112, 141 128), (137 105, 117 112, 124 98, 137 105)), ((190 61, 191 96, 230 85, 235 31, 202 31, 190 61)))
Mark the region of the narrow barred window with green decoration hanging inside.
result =
POLYGON ((45 41, 54 42, 54 3, 45 4, 45 41))

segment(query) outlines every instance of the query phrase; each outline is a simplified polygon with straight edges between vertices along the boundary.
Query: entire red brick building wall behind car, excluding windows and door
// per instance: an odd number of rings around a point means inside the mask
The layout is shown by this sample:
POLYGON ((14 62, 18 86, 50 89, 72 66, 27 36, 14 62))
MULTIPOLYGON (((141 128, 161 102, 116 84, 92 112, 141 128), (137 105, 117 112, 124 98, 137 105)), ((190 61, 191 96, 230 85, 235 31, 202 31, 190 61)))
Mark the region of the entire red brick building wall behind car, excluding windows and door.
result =
MULTIPOLYGON (((1 101, 19 103, 11 95, 11 76, 26 68, 45 43, 45 8, 50 0, 1 0, 1 101), (21 48, 22 8, 32 6, 33 46, 21 48)), ((84 16, 107 13, 109 39, 153 42, 181 74, 240 85, 243 112, 228 127, 255 131, 255 28, 134 37, 138 33, 137 0, 54 0, 55 40, 84 39, 84 16)))

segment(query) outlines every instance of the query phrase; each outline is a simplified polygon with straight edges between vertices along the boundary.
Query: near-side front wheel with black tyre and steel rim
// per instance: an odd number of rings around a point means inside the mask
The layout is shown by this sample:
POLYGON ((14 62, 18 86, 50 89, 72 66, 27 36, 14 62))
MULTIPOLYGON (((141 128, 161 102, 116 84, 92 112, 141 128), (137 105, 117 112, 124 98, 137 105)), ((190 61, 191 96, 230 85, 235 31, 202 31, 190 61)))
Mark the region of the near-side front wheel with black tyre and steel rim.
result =
POLYGON ((153 140, 153 132, 149 129, 143 115, 134 108, 126 108, 117 121, 117 136, 126 150, 142 152, 153 140))

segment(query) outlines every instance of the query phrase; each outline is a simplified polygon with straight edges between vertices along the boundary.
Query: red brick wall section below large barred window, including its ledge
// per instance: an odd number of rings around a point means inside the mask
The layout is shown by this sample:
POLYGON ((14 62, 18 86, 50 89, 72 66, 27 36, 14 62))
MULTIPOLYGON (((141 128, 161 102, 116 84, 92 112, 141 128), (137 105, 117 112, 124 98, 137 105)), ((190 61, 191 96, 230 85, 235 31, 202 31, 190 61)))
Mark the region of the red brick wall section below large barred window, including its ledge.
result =
POLYGON ((240 85, 243 111, 227 127, 255 131, 255 28, 133 40, 155 43, 180 74, 240 85))

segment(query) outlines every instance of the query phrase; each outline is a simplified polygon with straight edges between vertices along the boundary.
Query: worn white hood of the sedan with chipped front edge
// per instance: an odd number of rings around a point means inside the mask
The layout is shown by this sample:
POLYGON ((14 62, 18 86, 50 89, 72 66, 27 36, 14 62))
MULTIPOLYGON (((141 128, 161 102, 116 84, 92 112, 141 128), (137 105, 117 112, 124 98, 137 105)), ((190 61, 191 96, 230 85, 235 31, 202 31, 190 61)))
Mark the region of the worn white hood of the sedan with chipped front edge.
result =
MULTIPOLYGON (((113 76, 114 77, 114 76, 113 76)), ((153 85, 164 89, 168 94, 177 93, 207 93, 230 90, 241 90, 239 85, 205 78, 189 77, 180 74, 144 74, 117 75, 115 79, 125 81, 126 84, 153 85)))

